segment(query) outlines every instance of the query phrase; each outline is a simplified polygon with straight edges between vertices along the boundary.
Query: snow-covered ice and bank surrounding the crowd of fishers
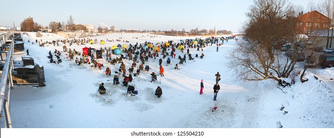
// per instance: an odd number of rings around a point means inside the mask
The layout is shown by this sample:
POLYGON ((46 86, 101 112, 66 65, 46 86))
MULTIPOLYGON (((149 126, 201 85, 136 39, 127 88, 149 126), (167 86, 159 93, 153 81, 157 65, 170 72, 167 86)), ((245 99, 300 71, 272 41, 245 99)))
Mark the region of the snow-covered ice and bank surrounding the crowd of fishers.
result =
MULTIPOLYGON (((280 125, 283 128, 334 128, 334 85, 333 80, 326 78, 334 77, 333 68, 311 69, 306 73, 309 81, 301 83, 298 79, 300 76, 297 76, 296 84, 282 90, 274 80, 242 83, 226 67, 228 60, 225 56, 235 46, 235 40, 228 40, 219 46, 219 52, 216 52, 216 46, 205 47, 203 52, 190 48, 193 57, 201 53, 205 56, 203 59, 187 60, 179 65, 180 70, 173 68, 179 61, 177 56, 183 57, 186 52, 176 50, 176 59, 171 58, 171 65, 166 66, 167 59, 163 60, 164 77, 159 76, 157 82, 151 83, 150 74, 141 72, 131 83, 139 94, 128 97, 123 95, 126 87, 115 86, 108 81, 112 80, 120 64, 113 66, 106 63, 105 53, 104 59, 98 59, 104 64, 104 68, 99 70, 90 65, 78 66, 69 61, 65 53, 61 54, 62 63, 51 64, 47 58, 49 51, 62 51, 63 45, 82 52, 85 46, 100 49, 118 43, 134 45, 136 42, 149 41, 155 44, 168 40, 177 43, 181 39, 195 37, 108 34, 88 37, 104 40, 105 45, 69 46, 68 43, 59 42, 60 46, 46 44, 40 47, 35 43, 36 39, 49 42, 65 39, 55 34, 42 34, 43 37, 36 37, 35 33, 22 36, 29 55, 35 63, 44 66, 47 85, 41 88, 14 87, 10 95, 10 115, 14 128, 278 128, 280 125), (115 41, 120 37, 121 41, 115 41), (107 41, 107 38, 114 42, 107 41), (111 76, 104 73, 107 67, 111 69, 111 76), (222 75, 221 90, 217 101, 213 101, 217 72, 222 75), (317 80, 313 75, 324 77, 317 80), (199 94, 201 79, 204 79, 203 95, 199 94), (102 82, 110 94, 98 93, 102 82), (163 90, 161 98, 154 95, 157 86, 163 90), (284 110, 280 110, 282 105, 284 110), (218 108, 212 112, 215 106, 218 108), (288 113, 283 114, 284 111, 288 113)), ((150 73, 159 72, 160 58, 150 58, 145 63, 151 67, 150 73)), ((20 59, 15 55, 15 60, 20 59)), ((132 62, 124 61, 128 69, 132 62)), ((121 75, 119 79, 121 83, 121 75)))

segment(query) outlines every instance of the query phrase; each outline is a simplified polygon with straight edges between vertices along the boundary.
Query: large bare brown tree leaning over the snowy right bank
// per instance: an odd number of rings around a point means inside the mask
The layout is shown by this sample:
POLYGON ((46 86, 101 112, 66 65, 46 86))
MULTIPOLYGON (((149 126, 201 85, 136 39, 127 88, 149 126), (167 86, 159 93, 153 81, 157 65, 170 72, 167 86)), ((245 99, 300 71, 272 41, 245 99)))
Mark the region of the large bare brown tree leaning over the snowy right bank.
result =
POLYGON ((294 41, 294 15, 285 0, 254 0, 249 20, 243 27, 243 40, 229 53, 228 67, 242 80, 274 79, 284 85, 281 77, 288 77, 294 69, 298 48, 285 58, 279 58, 278 43, 294 41))

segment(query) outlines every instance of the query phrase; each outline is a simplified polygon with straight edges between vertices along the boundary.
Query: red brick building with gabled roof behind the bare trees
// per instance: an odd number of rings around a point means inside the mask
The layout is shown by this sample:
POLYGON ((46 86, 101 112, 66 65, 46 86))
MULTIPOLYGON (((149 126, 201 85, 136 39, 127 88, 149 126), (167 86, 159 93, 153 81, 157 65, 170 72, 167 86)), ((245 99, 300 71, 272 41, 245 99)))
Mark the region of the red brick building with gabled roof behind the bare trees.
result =
POLYGON ((318 11, 301 13, 295 18, 296 34, 309 35, 314 30, 329 30, 331 27, 331 19, 318 11))

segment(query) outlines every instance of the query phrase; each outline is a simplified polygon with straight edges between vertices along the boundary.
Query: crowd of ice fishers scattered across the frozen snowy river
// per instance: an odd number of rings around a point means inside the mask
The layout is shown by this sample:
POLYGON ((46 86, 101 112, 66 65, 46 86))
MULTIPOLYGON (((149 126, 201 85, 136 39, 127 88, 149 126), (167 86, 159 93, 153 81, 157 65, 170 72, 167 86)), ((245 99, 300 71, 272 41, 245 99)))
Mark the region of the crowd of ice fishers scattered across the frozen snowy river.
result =
MULTIPOLYGON (((144 35, 142 36, 144 37, 144 35)), ((157 37, 156 35, 149 36, 150 38, 152 37, 157 37)), ((138 38, 138 37, 137 37, 138 38)), ((116 41, 120 41, 122 39, 121 37, 119 39, 116 39, 116 41)), ((153 83, 154 81, 157 81, 158 75, 161 77, 164 77, 165 74, 165 69, 163 67, 163 62, 166 60, 167 65, 170 65, 172 62, 175 61, 176 55, 178 56, 178 61, 175 64, 175 67, 173 69, 179 70, 180 64, 184 64, 187 62, 187 60, 191 61, 194 60, 195 58, 204 58, 204 54, 201 53, 200 56, 198 54, 195 54, 195 57, 193 57, 190 49, 195 49, 192 51, 204 51, 203 48, 207 46, 212 46, 215 45, 217 46, 217 52, 218 52, 218 46, 223 45, 224 40, 227 42, 228 39, 234 39, 234 37, 209 37, 209 38, 195 38, 195 39, 186 39, 186 40, 180 40, 179 43, 174 43, 174 41, 167 41, 167 42, 161 42, 154 44, 152 42, 145 41, 143 44, 129 44, 128 48, 122 49, 122 54, 121 55, 115 55, 114 49, 107 48, 105 47, 104 49, 101 47, 100 50, 105 53, 103 54, 104 56, 102 60, 97 60, 94 57, 94 54, 91 54, 91 56, 85 55, 84 53, 80 53, 76 51, 75 49, 68 48, 66 44, 71 46, 72 44, 77 44, 77 45, 85 45, 87 43, 90 43, 91 41, 94 41, 97 43, 99 40, 98 39, 72 39, 72 40, 56 40, 53 41, 53 44, 59 45, 59 43, 63 43, 64 45, 62 46, 63 50, 62 52, 66 53, 66 58, 69 58, 69 60, 74 60, 75 57, 75 63, 77 65, 84 65, 84 64, 93 64, 90 67, 91 68, 98 68, 102 69, 104 65, 101 62, 104 62, 104 60, 107 63, 110 63, 110 65, 113 68, 110 68, 107 66, 105 68, 105 74, 107 76, 111 76, 112 71, 111 69, 114 69, 117 64, 119 64, 118 70, 115 70, 115 74, 113 74, 113 84, 118 85, 119 84, 119 79, 122 79, 122 85, 124 87, 128 87, 127 93, 128 94, 133 94, 134 93, 134 86, 130 84, 130 82, 133 81, 132 74, 134 76, 138 76, 141 73, 148 73, 151 76, 151 82, 153 83), (148 45, 155 45, 159 47, 158 49, 153 49, 153 47, 149 47, 148 45), (182 46, 179 48, 179 46, 182 46), (178 49, 179 51, 176 51, 178 49), (161 50, 161 51, 160 51, 161 50), (199 56, 199 57, 198 57, 199 56), (166 59, 167 58, 167 59, 166 59), (150 61, 155 61, 155 59, 159 59, 159 70, 153 70, 151 71, 151 68, 147 64, 147 62, 150 61), (128 66, 124 63, 124 60, 127 60, 127 63, 132 63, 129 64, 128 66), (144 68, 145 67, 145 68, 144 68), (156 72, 159 71, 157 74, 156 72), (120 74, 122 78, 120 77, 120 74), (119 75, 119 76, 118 76, 119 75)), ((42 41, 42 40, 41 40, 42 41)), ((102 40, 101 40, 102 41, 102 40)), ((114 40, 112 39, 107 39, 109 42, 113 42, 114 40)), ((37 40, 36 40, 37 42, 37 40)), ((127 41, 128 42, 128 41, 127 41)), ((51 63, 61 63, 60 55, 61 52, 59 50, 55 49, 55 56, 57 57, 57 60, 53 60, 53 55, 51 51, 49 52, 49 58, 51 63)), ((167 70, 167 72, 170 70, 167 70)), ((219 86, 219 81, 220 79, 220 74, 219 72, 216 74, 216 85, 214 85, 214 101, 216 101, 217 98, 217 93, 220 90, 219 86)), ((201 85, 200 85, 200 94, 203 93, 204 89, 204 80, 201 80, 201 85)), ((99 87, 99 92, 100 94, 105 94, 106 89, 104 88, 104 84, 100 84, 99 87)), ((158 86, 156 90, 156 95, 158 97, 161 97, 162 95, 162 88, 158 86)))

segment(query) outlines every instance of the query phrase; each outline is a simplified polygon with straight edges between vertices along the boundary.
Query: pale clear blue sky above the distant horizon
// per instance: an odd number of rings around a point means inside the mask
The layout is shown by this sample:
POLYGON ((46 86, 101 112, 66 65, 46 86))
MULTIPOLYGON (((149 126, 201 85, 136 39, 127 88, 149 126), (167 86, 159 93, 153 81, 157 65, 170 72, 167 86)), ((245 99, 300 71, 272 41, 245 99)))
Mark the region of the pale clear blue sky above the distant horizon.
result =
MULTIPOLYGON (((310 0, 289 0, 306 5, 310 0)), ((313 0, 318 3, 320 0, 313 0)), ((202 29, 238 32, 253 0, 1 0, 0 26, 19 26, 27 17, 42 26, 52 21, 100 23, 117 29, 186 31, 202 29)))

